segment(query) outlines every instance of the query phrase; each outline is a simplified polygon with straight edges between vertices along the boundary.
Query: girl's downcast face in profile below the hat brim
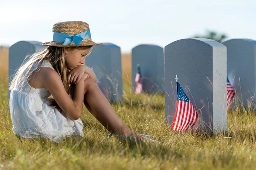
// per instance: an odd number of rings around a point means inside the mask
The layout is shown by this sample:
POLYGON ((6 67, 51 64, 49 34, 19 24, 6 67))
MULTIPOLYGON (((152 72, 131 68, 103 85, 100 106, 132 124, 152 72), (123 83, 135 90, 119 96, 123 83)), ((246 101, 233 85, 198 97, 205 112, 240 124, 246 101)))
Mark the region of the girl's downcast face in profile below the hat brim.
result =
POLYGON ((84 64, 84 58, 90 52, 90 48, 85 49, 85 50, 75 49, 72 52, 69 52, 69 51, 65 50, 65 48, 64 48, 64 51, 67 54, 67 56, 65 57, 67 69, 73 70, 74 68, 78 67, 79 65, 84 64))

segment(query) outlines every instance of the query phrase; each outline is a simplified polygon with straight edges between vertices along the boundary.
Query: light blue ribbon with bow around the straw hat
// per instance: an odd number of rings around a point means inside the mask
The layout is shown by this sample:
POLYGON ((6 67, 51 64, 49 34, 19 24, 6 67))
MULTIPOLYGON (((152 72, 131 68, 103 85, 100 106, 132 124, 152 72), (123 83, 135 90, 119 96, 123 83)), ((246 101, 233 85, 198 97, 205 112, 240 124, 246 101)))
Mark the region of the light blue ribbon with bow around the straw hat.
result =
POLYGON ((91 38, 90 29, 82 31, 78 34, 70 36, 69 34, 60 33, 60 32, 53 32, 52 41, 55 42, 63 42, 62 45, 69 45, 71 42, 75 42, 76 46, 80 44, 82 40, 91 38))

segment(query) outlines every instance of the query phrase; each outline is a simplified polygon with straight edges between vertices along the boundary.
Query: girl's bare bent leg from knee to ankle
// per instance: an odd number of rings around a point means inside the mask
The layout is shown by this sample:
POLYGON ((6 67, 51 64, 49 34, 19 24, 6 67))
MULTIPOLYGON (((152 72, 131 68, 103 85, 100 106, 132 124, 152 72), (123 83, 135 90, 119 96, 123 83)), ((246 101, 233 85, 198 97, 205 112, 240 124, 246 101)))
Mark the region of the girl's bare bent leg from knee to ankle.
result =
POLYGON ((84 82, 84 100, 86 100, 87 105, 90 107, 89 111, 101 119, 99 122, 103 126, 107 126, 108 130, 115 131, 115 133, 124 134, 125 136, 137 136, 122 122, 104 94, 102 94, 98 85, 89 78, 84 82))

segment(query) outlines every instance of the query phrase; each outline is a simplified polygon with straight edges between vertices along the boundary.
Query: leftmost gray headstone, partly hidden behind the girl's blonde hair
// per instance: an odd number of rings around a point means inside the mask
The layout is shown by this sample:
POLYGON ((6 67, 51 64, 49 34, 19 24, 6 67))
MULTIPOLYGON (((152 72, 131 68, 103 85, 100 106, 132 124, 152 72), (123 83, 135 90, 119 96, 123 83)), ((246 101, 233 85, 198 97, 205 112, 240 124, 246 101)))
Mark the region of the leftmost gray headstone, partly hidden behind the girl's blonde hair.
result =
MULTIPOLYGON (((38 41, 19 41, 9 48, 9 84, 12 81, 15 71, 23 63, 27 55, 32 55, 35 51, 46 48, 45 46, 41 46, 41 44, 42 42, 38 41)), ((8 96, 10 96, 10 92, 8 96)))

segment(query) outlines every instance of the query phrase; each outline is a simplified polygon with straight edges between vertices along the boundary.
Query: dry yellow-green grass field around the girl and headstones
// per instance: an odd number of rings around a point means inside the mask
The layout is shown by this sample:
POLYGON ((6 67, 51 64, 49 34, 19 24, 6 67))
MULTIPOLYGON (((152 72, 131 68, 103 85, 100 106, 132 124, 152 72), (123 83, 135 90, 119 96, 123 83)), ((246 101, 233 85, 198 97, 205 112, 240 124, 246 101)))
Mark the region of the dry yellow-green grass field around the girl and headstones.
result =
POLYGON ((0 169, 256 169, 255 111, 230 110, 225 135, 168 129, 164 96, 132 93, 127 78, 131 65, 124 65, 129 54, 122 56, 124 104, 113 108, 132 130, 153 135, 161 144, 108 139, 107 130, 85 109, 83 138, 70 137, 60 144, 19 139, 12 132, 8 110, 7 56, 8 51, 0 51, 0 169))

